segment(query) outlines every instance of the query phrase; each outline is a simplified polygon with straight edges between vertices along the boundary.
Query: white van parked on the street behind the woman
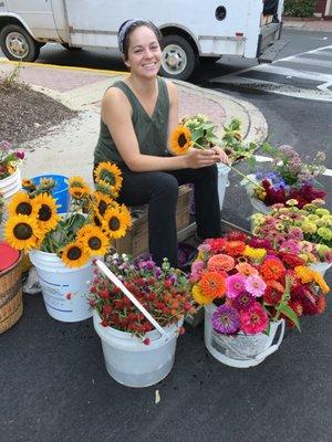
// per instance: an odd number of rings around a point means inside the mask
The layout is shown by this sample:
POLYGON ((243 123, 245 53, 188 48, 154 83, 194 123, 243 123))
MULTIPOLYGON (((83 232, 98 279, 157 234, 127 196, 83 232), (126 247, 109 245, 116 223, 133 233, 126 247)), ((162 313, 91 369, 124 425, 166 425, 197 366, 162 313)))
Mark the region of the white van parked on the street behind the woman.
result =
POLYGON ((40 48, 117 48, 129 18, 153 21, 163 34, 162 74, 186 80, 197 61, 222 55, 271 61, 278 51, 283 0, 0 0, 0 46, 10 60, 33 62, 40 48), (273 18, 273 19, 272 19, 273 18))

